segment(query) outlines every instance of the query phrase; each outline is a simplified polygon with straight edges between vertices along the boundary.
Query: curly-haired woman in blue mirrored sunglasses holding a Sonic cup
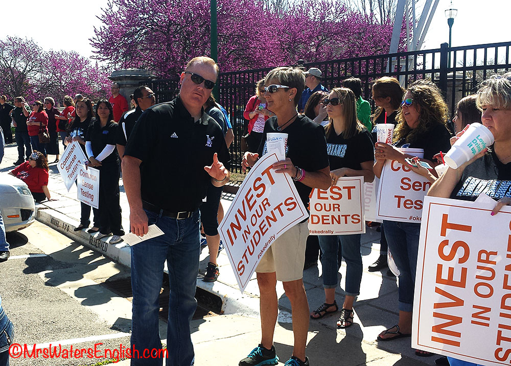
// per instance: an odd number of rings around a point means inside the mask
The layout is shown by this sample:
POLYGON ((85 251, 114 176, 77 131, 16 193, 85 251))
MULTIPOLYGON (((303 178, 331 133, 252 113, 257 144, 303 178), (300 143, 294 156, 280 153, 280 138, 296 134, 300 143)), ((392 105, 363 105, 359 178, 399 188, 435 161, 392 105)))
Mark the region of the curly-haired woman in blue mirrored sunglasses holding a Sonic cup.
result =
MULTIPOLYGON (((434 166, 433 156, 439 151, 448 151, 451 134, 447 130, 447 105, 436 85, 427 80, 416 81, 408 87, 401 111, 398 113, 399 123, 394 129, 393 144, 377 142, 374 172, 381 176, 383 165, 387 159, 397 160, 408 165, 405 158, 413 156, 404 154, 398 148, 416 148, 424 150, 424 160, 434 166)), ((399 275, 399 323, 378 336, 378 340, 386 341, 410 336, 413 309, 413 291, 415 270, 417 266, 417 250, 421 224, 383 221, 385 237, 392 257, 398 266, 399 275)), ((425 351, 416 351, 418 356, 431 356, 425 351)))

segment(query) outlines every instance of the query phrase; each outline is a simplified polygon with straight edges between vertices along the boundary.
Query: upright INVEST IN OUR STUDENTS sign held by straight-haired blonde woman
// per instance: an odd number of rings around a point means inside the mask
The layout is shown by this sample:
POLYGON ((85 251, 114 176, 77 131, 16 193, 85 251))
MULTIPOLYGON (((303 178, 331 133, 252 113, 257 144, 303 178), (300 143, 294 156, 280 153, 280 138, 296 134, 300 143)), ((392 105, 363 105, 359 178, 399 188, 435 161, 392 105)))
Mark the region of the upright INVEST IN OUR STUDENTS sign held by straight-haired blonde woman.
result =
POLYGON ((309 232, 312 235, 364 234, 364 177, 341 177, 329 190, 310 194, 309 232))

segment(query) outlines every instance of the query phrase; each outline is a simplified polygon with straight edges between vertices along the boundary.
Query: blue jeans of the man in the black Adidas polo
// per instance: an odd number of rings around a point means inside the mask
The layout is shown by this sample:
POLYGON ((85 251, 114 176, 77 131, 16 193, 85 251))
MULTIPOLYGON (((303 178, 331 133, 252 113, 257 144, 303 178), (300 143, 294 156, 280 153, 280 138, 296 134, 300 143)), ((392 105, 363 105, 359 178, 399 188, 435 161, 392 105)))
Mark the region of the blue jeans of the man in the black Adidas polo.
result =
MULTIPOLYGON (((146 210, 148 224, 156 224, 165 234, 131 247, 131 287, 133 320, 131 346, 138 350, 161 349, 158 333, 159 292, 167 260, 170 296, 167 326, 167 366, 193 365, 194 350, 190 322, 197 308, 195 290, 199 272, 200 213, 177 220, 146 210)), ((135 357, 136 351, 134 352, 135 357)), ((132 358, 131 365, 162 365, 162 358, 132 358)))

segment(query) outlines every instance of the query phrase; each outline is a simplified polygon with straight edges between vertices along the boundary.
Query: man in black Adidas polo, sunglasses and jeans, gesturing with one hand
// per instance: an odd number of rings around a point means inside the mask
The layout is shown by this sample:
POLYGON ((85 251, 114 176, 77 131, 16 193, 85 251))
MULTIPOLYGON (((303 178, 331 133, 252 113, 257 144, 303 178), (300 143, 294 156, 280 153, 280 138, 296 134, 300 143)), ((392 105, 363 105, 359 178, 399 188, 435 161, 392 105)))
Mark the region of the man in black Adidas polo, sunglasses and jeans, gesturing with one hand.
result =
POLYGON ((217 76, 214 60, 192 59, 181 74, 179 96, 144 111, 126 145, 122 166, 131 232, 143 236, 156 224, 165 233, 131 247, 132 365, 162 364, 161 354, 136 357, 161 349, 158 298, 165 261, 170 282, 166 364, 194 363, 190 321, 197 307, 198 208, 210 182, 220 187, 229 180, 223 132, 202 108, 217 76))

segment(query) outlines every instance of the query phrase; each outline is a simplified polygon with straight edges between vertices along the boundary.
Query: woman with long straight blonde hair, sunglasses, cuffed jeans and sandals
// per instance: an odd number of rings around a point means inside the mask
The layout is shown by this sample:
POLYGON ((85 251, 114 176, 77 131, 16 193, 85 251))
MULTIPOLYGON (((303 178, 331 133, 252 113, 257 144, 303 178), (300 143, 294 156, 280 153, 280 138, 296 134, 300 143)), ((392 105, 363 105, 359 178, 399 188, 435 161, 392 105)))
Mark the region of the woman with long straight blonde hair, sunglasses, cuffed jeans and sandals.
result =
MULTIPOLYGON (((331 186, 335 186, 340 177, 363 176, 365 182, 372 182, 375 179, 373 140, 357 119, 355 94, 347 88, 334 88, 322 103, 330 120, 326 136, 331 186)), ((338 310, 335 289, 338 285, 337 252, 340 246, 346 262, 346 296, 337 327, 347 328, 353 324, 353 302, 360 293, 362 280, 360 238, 361 234, 319 236, 325 302, 311 313, 312 319, 338 310)))

